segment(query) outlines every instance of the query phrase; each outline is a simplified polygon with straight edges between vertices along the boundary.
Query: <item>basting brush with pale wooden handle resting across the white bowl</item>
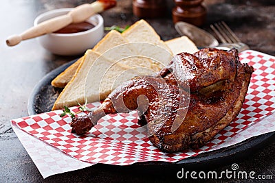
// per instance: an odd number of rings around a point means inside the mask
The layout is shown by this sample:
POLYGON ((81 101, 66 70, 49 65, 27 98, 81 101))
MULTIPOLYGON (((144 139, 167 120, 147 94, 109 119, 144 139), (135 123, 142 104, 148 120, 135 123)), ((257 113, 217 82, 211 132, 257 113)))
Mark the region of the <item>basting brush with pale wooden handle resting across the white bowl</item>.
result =
POLYGON ((57 30, 62 29, 71 23, 84 22, 93 14, 108 10, 109 8, 113 8, 115 5, 115 0, 98 0, 91 4, 86 3, 79 5, 78 7, 71 10, 68 14, 56 16, 53 19, 39 23, 39 25, 31 27, 20 35, 10 36, 5 42, 8 46, 12 47, 19 44, 21 40, 27 40, 30 38, 42 36, 44 34, 56 32, 57 30))

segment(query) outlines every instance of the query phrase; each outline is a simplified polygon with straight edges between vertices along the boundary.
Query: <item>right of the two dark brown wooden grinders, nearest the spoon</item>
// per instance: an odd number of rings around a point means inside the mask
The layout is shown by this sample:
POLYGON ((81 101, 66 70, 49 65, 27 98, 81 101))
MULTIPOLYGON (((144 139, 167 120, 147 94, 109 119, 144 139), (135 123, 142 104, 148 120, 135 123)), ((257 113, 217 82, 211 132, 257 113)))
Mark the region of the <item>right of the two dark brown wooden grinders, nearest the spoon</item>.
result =
POLYGON ((203 0, 174 0, 176 7, 173 8, 173 21, 184 21, 193 25, 201 26, 206 21, 206 8, 201 5, 203 0))

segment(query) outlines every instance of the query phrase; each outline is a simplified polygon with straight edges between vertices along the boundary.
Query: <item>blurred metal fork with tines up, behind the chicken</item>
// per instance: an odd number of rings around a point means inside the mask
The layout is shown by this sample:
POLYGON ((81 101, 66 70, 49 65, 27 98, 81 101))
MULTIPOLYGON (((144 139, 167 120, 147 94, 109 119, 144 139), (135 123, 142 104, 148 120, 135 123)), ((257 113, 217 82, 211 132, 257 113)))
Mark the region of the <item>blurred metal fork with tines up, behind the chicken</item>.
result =
POLYGON ((228 25, 224 21, 214 23, 210 25, 210 28, 222 42, 219 47, 234 47, 240 52, 250 49, 248 45, 245 45, 245 43, 241 42, 241 40, 236 36, 236 34, 234 34, 234 32, 232 32, 232 29, 230 29, 230 27, 228 27, 228 25))

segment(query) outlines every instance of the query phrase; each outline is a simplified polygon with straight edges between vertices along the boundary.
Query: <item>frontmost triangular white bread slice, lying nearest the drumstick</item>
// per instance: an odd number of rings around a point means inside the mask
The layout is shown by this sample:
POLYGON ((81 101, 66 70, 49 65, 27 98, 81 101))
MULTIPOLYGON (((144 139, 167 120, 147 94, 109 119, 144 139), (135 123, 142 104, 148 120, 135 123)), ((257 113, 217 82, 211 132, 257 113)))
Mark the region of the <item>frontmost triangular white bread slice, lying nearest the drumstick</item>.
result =
MULTIPOLYGON (((74 77, 58 96, 52 110, 104 99, 111 92, 116 77, 127 69, 129 68, 119 63, 114 64, 96 51, 86 51, 74 77)), ((129 80, 135 75, 137 73, 127 73, 123 80, 129 80)))

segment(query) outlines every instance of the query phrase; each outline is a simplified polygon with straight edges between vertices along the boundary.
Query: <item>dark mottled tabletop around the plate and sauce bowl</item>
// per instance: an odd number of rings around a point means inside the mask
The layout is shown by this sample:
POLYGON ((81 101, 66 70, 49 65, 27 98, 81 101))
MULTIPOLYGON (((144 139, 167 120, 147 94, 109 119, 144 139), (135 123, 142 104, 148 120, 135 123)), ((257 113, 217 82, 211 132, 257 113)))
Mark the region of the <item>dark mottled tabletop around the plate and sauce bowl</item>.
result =
MULTIPOLYGON (((91 3, 78 0, 17 0, 1 1, 1 66, 0 66, 0 182, 175 182, 177 167, 115 167, 98 164, 86 169, 53 175, 43 180, 30 156, 12 131, 10 119, 28 115, 27 102, 32 88, 41 78, 56 67, 78 58, 55 56, 45 51, 36 40, 26 40, 16 47, 7 47, 5 38, 11 34, 23 32, 32 26, 34 18, 47 10, 68 8, 91 3)), ((270 0, 205 1, 208 8, 208 20, 203 29, 209 30, 210 23, 225 21, 251 49, 275 55, 275 3, 270 0)), ((162 19, 148 19, 163 40, 179 36, 173 27, 170 11, 173 1, 168 1, 167 16, 162 19)), ((106 26, 131 25, 138 20, 133 16, 131 1, 121 0, 116 8, 102 13, 106 26)), ((274 136, 261 147, 250 152, 249 156, 233 156, 226 162, 202 164, 200 167, 188 167, 186 171, 208 170, 225 171, 232 162, 239 164, 243 171, 255 171, 272 175, 275 180, 275 142, 274 136)), ((192 180, 190 180, 192 181, 192 180)), ((208 180, 210 182, 252 182, 252 180, 208 180)), ((265 180, 267 181, 267 180, 265 180)), ((272 182, 272 180, 269 180, 272 182)), ((254 180, 263 182, 263 180, 254 180)))

